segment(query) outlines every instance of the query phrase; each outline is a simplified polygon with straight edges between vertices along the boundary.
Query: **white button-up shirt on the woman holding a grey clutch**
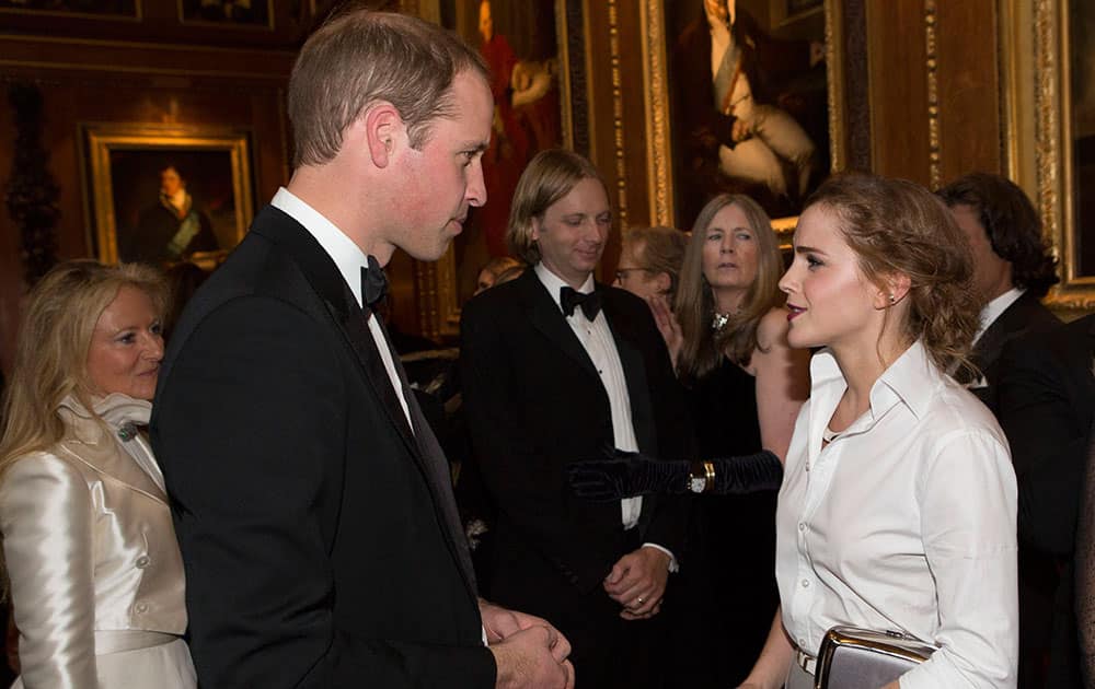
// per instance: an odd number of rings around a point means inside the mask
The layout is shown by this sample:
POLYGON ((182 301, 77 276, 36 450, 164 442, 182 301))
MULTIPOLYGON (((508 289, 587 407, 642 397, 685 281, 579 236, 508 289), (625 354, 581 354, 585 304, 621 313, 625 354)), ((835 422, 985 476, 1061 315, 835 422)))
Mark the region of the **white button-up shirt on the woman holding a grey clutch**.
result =
POLYGON ((822 448, 848 385, 829 350, 810 379, 776 512, 792 641, 817 655, 835 624, 900 631, 940 646, 902 689, 1015 687, 1016 489, 995 419, 917 342, 822 448))

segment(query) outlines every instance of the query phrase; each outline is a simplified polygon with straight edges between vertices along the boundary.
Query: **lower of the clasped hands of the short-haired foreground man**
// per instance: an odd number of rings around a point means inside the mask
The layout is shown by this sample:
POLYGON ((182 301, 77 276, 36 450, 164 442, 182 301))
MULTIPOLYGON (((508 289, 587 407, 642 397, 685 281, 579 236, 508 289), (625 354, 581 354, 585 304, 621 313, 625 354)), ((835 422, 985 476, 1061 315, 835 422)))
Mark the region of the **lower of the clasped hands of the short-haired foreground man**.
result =
POLYGON ((491 644, 498 667, 497 689, 573 689, 574 666, 553 649, 566 640, 551 627, 532 627, 491 644))

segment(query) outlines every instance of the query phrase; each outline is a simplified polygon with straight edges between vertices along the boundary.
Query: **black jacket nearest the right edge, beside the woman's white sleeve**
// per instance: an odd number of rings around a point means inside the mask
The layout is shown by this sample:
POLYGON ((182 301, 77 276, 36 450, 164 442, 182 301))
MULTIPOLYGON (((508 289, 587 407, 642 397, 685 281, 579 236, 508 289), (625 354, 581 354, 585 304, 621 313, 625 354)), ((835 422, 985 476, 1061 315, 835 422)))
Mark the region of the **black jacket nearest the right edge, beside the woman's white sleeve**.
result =
POLYGON ((1079 684, 1072 607, 1076 515, 1095 411, 1095 316, 1013 339, 1000 358, 1000 424, 1018 481, 1019 679, 1079 684), (1041 676, 1049 652, 1048 677, 1041 676))

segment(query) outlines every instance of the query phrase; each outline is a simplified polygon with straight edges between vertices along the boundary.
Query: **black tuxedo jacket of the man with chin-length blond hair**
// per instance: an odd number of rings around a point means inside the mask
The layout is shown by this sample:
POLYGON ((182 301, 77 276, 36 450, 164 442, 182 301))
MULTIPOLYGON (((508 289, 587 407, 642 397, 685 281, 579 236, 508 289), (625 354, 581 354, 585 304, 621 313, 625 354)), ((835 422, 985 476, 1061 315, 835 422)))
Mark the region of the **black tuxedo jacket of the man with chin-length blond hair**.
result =
MULTIPOLYGON (((598 284, 597 291, 626 377, 639 449, 664 459, 690 457, 683 394, 649 308, 623 290, 598 284)), ((465 305, 460 363, 472 448, 499 510, 492 595, 549 614, 566 609, 600 587, 615 561, 637 546, 623 532, 619 502, 579 500, 566 486, 568 463, 613 445, 608 394, 531 269, 465 305)), ((642 540, 679 556, 685 509, 679 499, 645 498, 642 540)))

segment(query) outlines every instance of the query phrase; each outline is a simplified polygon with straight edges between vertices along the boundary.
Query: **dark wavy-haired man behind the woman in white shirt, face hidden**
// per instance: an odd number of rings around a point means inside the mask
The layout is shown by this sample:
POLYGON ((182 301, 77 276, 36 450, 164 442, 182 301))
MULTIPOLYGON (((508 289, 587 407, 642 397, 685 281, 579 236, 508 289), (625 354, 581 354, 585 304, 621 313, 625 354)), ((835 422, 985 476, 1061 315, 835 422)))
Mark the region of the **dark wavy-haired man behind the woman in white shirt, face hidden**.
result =
POLYGON ((969 238, 975 296, 982 303, 970 353, 980 376, 959 371, 958 382, 995 413, 1004 344, 1061 324, 1039 301, 1058 282, 1057 260, 1041 238, 1041 220, 1030 199, 1006 177, 971 173, 936 194, 969 238))

